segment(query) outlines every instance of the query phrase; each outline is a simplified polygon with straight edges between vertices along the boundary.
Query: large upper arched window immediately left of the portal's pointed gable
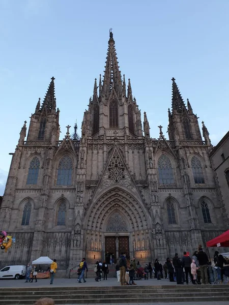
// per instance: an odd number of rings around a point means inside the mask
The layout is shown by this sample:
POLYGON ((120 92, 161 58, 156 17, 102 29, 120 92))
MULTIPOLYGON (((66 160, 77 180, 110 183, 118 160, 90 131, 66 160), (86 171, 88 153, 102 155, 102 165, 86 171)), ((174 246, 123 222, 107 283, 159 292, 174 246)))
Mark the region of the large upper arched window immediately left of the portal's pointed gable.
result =
POLYGON ((58 178, 56 185, 70 186, 72 184, 72 159, 65 155, 58 166, 58 178))

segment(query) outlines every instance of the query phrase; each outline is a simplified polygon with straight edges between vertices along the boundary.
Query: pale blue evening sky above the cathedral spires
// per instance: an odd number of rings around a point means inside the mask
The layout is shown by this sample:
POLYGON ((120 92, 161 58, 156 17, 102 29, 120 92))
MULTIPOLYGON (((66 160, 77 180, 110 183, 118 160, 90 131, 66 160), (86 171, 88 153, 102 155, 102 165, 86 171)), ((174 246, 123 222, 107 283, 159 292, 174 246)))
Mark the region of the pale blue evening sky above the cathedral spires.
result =
MULTIPOLYGON (((171 78, 216 144, 228 131, 229 1, 1 0, 0 195, 23 121, 55 77, 61 139, 103 75, 109 28, 151 136, 167 130, 171 78)), ((79 130, 79 132, 81 132, 79 130)))

